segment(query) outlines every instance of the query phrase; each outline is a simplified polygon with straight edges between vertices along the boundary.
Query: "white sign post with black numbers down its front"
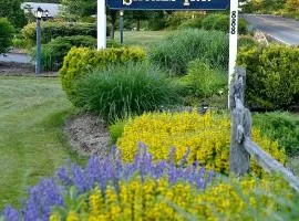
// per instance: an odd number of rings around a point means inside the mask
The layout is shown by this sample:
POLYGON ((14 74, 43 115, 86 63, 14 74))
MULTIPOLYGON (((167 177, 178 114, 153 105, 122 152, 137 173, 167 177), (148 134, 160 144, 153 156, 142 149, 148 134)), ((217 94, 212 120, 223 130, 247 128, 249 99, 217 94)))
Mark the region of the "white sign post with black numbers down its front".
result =
POLYGON ((228 64, 228 108, 230 84, 235 73, 238 53, 238 0, 230 0, 230 28, 229 28, 229 64, 228 64))

